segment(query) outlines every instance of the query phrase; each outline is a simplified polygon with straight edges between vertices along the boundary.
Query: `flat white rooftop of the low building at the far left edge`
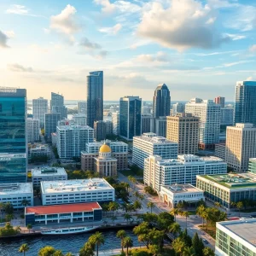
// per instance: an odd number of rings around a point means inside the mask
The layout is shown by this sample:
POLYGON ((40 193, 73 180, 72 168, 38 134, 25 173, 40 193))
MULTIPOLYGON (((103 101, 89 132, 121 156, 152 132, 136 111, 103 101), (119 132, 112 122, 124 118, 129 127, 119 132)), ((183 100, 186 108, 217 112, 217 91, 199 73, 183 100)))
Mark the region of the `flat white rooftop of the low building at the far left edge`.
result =
POLYGON ((32 183, 0 183, 0 195, 33 193, 32 183))

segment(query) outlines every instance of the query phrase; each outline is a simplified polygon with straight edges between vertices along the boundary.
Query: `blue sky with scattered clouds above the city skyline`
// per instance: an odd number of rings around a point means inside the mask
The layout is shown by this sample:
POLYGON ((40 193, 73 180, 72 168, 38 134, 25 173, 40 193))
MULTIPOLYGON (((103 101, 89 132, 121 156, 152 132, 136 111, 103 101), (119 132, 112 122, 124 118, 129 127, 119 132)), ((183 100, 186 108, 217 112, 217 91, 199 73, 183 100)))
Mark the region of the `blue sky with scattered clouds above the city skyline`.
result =
POLYGON ((86 100, 104 71, 104 100, 235 97, 256 80, 255 0, 0 0, 0 86, 28 99, 86 100))

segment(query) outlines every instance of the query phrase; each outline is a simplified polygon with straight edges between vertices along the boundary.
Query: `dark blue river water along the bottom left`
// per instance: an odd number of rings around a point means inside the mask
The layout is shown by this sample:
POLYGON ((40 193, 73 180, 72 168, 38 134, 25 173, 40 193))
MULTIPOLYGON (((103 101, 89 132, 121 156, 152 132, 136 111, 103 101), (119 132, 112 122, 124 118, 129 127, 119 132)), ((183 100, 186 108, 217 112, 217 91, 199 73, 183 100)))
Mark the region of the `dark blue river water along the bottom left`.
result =
MULTIPOLYGON (((102 232, 105 236, 105 244, 100 247, 100 250, 111 250, 120 247, 120 239, 116 237, 118 230, 108 230, 102 232)), ((127 236, 131 236, 133 246, 139 246, 137 236, 131 230, 125 230, 127 236)), ((77 255, 79 249, 84 246, 84 243, 93 233, 84 233, 72 236, 34 236, 26 238, 15 238, 9 241, 8 239, 0 240, 0 256, 15 256, 23 255, 18 252, 19 247, 23 243, 27 243, 30 250, 26 256, 37 256, 38 250, 41 247, 51 246, 55 249, 60 249, 63 253, 71 252, 77 255)))

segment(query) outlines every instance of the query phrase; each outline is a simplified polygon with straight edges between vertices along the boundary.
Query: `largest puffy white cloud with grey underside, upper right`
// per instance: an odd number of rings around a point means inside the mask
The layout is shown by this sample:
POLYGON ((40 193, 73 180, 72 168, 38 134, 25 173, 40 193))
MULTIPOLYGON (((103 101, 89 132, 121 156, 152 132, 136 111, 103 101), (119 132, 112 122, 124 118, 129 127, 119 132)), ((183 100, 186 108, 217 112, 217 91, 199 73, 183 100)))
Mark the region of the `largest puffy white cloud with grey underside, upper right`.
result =
POLYGON ((166 8, 154 2, 144 9, 137 32, 168 48, 211 49, 230 40, 209 23, 212 14, 208 5, 195 0, 172 0, 172 5, 166 8))

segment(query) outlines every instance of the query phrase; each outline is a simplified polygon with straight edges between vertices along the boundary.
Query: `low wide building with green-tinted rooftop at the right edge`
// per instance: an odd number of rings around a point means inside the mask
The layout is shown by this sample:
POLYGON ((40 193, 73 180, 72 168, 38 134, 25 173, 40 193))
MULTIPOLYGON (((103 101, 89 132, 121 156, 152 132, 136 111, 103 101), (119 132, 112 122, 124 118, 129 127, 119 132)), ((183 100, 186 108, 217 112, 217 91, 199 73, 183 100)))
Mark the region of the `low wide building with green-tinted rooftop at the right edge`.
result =
POLYGON ((205 191, 209 201, 230 209, 238 201, 256 200, 256 174, 253 172, 199 175, 196 187, 205 191))

